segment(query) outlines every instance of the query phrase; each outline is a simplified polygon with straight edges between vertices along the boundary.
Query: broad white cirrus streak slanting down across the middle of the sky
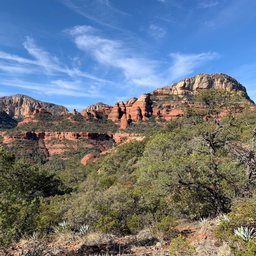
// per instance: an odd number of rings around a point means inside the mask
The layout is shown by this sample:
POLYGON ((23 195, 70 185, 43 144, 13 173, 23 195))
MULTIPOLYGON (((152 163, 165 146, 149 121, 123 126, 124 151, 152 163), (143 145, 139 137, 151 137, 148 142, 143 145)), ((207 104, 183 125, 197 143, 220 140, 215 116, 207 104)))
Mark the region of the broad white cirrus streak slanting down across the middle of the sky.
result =
POLYGON ((140 56, 120 40, 101 36, 97 30, 88 26, 71 28, 69 34, 73 36, 78 49, 103 66, 121 69, 127 80, 155 73, 157 61, 140 56))

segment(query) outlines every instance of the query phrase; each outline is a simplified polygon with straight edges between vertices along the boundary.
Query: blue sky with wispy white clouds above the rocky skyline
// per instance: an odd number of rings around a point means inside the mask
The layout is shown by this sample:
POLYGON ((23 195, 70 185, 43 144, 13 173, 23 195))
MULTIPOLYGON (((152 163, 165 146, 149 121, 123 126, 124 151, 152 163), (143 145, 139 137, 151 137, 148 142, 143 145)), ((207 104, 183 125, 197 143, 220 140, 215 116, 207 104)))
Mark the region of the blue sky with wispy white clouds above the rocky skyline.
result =
POLYGON ((0 96, 81 111, 198 73, 256 101, 255 0, 1 0, 0 96))

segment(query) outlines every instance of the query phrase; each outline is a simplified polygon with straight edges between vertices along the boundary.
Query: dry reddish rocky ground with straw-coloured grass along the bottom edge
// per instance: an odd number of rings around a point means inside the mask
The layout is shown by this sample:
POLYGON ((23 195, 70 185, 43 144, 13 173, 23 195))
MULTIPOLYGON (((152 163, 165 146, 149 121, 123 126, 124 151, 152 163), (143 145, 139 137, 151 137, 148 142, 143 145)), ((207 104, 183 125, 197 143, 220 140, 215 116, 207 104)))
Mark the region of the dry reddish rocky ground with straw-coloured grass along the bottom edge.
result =
MULTIPOLYGON (((207 233, 197 226, 198 222, 187 219, 177 221, 176 234, 188 238, 195 247, 193 255, 198 256, 231 256, 227 244, 219 244, 213 236, 212 230, 207 233)), ((50 239, 49 239, 50 240, 50 239)), ((82 255, 170 255, 171 240, 161 239, 151 235, 150 229, 140 231, 137 235, 117 237, 113 234, 91 232, 86 237, 66 233, 53 238, 52 242, 46 239, 22 239, 14 244, 5 254, 8 256, 21 255, 51 255, 51 256, 82 256, 82 255)), ((187 255, 187 254, 171 254, 187 255)), ((191 255, 191 254, 189 254, 191 255)))

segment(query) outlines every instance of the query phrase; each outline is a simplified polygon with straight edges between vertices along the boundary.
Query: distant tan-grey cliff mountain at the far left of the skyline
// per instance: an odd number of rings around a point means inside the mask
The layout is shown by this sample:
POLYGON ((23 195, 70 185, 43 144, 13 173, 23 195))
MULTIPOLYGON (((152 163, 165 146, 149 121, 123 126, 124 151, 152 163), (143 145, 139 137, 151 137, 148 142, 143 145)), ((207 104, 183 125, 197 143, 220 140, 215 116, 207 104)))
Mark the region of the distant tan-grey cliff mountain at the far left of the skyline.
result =
POLYGON ((28 113, 38 108, 44 108, 53 115, 68 112, 68 109, 63 106, 38 101, 22 94, 0 97, 0 110, 5 111, 9 116, 18 121, 21 121, 28 113))

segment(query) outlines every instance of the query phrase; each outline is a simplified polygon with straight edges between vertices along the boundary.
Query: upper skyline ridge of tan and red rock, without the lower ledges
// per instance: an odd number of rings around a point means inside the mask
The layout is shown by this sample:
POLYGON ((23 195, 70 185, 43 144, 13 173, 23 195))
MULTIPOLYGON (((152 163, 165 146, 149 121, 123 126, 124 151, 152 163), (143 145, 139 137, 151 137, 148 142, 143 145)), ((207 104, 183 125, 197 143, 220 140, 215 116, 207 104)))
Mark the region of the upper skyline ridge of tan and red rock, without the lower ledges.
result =
MULTIPOLYGON (((196 94, 199 90, 210 88, 243 91, 245 98, 250 100, 245 87, 233 77, 225 74, 198 74, 184 78, 171 86, 142 94, 138 99, 132 98, 126 102, 116 102, 114 107, 98 102, 85 108, 80 113, 74 109, 71 114, 81 114, 84 117, 92 116, 95 119, 99 118, 99 114, 106 114, 108 119, 118 124, 121 129, 125 129, 131 121, 148 120, 153 115, 156 116, 156 119, 164 118, 170 121, 182 116, 184 107, 202 107, 196 106, 193 100, 190 101, 190 95, 196 94)), ((4 110, 15 119, 24 117, 18 125, 36 122, 34 114, 37 112, 35 111, 43 113, 44 109, 47 109, 53 115, 69 114, 68 109, 63 106, 36 101, 25 95, 16 94, 0 98, 0 110, 4 110)), ((45 110, 44 113, 49 113, 47 111, 45 110)), ((72 117, 69 119, 72 122, 72 117)))

